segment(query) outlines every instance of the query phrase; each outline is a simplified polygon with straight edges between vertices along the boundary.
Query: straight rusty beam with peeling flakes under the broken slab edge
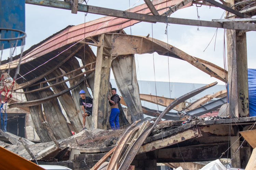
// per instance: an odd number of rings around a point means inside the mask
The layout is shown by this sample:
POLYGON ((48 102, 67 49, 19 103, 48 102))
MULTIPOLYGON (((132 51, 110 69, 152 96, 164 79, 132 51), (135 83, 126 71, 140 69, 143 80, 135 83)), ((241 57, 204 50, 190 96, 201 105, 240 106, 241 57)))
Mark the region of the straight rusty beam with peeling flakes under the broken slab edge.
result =
POLYGON ((194 127, 192 129, 188 129, 183 132, 176 133, 175 135, 172 135, 170 137, 152 141, 150 143, 145 143, 140 147, 137 154, 153 151, 160 148, 165 148, 165 147, 174 145, 176 143, 179 143, 181 141, 198 137, 199 135, 200 135, 199 130, 196 127, 194 127))

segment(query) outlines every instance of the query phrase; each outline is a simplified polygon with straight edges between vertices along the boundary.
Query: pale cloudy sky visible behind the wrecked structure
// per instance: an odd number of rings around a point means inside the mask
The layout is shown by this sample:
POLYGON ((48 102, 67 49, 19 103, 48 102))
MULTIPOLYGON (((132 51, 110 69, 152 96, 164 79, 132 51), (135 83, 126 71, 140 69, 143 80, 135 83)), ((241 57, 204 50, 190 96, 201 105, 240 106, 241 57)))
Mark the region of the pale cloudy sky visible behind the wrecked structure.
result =
MULTIPOLYGON (((143 0, 89 0, 88 5, 112 8, 116 10, 126 10, 129 6, 140 5, 144 3, 143 0), (136 3, 137 2, 137 3, 136 3), (130 4, 130 5, 129 5, 130 4)), ((134 7, 133 6, 133 7, 134 7)), ((70 10, 63 10, 52 7, 38 6, 26 4, 26 45, 25 49, 29 49, 32 45, 39 43, 52 34, 62 30, 69 25, 78 25, 97 18, 104 17, 102 15, 87 14, 78 12, 71 14, 70 10)), ((171 14, 170 17, 185 18, 185 19, 199 19, 211 21, 212 19, 220 19, 224 10, 217 7, 209 6, 190 6, 183 8, 171 14), (198 12, 197 12, 198 11, 198 12)), ((216 28, 184 26, 179 24, 168 25, 168 36, 165 34, 165 23, 148 23, 140 22, 131 27, 124 29, 127 34, 143 35, 168 42, 170 45, 179 48, 194 57, 209 61, 217 66, 224 68, 224 29, 218 29, 215 41, 214 33, 216 28), (153 29, 152 29, 153 28, 153 29), (213 38, 214 36, 214 38, 213 38), (213 39, 212 39, 213 38, 213 39), (212 39, 212 41, 211 41, 212 39), (210 43, 211 41, 211 43, 210 43), (208 44, 210 45, 208 46, 208 44), (207 48, 208 46, 208 48, 207 48), (214 50, 215 47, 215 50, 214 50), (205 48, 207 48, 205 50, 205 48), (205 50, 205 51, 204 51, 205 50)), ((256 45, 256 32, 250 31, 247 35, 247 64, 248 68, 256 68, 256 58, 254 57, 254 48, 256 45)), ((225 42, 226 44, 226 42, 225 42)), ((97 48, 92 47, 96 54, 97 48)), ((226 51, 226 50, 225 50, 226 51)), ((17 48, 17 54, 20 53, 20 48, 17 48)), ((10 57, 10 50, 6 49, 3 52, 2 60, 10 57)), ((135 54, 136 69, 138 80, 144 81, 163 81, 163 82, 182 82, 182 83, 202 83, 210 84, 215 81, 218 84, 224 82, 210 78, 210 75, 202 72, 196 67, 190 65, 186 61, 176 58, 161 56, 154 54, 135 54), (154 60, 153 60, 154 57, 154 60), (169 70, 168 70, 169 65, 169 70), (155 71, 154 71, 155 70, 155 71)), ((111 79, 114 79, 111 73, 111 79)))

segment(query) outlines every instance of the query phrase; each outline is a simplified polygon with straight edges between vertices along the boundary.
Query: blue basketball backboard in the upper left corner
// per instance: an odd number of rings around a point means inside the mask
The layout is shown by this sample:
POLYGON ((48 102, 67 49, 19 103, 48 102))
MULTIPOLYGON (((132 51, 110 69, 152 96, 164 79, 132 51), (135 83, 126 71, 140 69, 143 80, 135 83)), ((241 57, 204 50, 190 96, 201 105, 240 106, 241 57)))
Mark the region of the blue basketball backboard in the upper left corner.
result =
MULTIPOLYGON (((25 0, 1 0, 0 1, 0 28, 11 28, 25 32, 25 0)), ((2 38, 15 38, 19 33, 15 31, 1 31, 2 38)), ((20 34, 19 36, 23 36, 20 34)), ((18 40, 17 46, 21 45, 22 40, 18 40)), ((12 41, 0 41, 0 45, 4 44, 4 49, 13 47, 16 44, 16 40, 12 41)), ((25 44, 25 42, 24 42, 25 44)))

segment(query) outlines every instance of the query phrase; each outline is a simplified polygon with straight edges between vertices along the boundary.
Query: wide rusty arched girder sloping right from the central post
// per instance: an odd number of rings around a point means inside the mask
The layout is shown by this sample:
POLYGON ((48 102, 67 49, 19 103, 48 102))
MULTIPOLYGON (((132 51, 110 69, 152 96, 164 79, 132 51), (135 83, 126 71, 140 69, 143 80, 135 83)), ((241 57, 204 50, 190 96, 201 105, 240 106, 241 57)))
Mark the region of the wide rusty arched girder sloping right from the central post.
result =
POLYGON ((189 64, 197 67, 203 72, 209 74, 211 77, 227 82, 227 71, 218 67, 210 62, 204 61, 200 58, 188 55, 184 51, 177 49, 174 46, 168 45, 160 40, 153 39, 145 36, 134 36, 126 34, 114 34, 115 41, 113 42, 113 54, 126 55, 126 54, 145 54, 153 53, 152 41, 154 52, 159 55, 168 55, 187 61, 189 64), (132 39, 132 41, 131 41, 132 39))

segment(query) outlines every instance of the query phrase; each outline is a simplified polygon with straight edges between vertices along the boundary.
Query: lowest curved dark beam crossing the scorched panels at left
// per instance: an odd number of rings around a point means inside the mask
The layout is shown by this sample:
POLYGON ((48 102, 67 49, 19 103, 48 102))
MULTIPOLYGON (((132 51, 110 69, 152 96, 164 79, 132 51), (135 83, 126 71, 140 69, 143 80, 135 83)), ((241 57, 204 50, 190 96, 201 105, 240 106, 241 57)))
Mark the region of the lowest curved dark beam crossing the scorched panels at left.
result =
MULTIPOLYGON (((88 73, 86 76, 89 76, 90 73, 88 73)), ((85 77, 86 77, 85 76, 85 77)), ((52 96, 48 96, 46 98, 42 98, 42 99, 39 99, 39 100, 32 100, 32 101, 27 101, 27 102, 20 102, 20 103, 13 103, 13 104, 9 104, 8 107, 9 108, 15 108, 15 107, 22 107, 22 106, 34 106, 34 105, 38 105, 38 104, 42 104, 44 102, 47 102, 47 101, 50 101, 50 100, 53 100, 53 99, 56 99, 57 97, 65 94, 66 92, 72 90, 73 88, 77 87, 79 84, 81 84, 82 82, 84 81, 84 79, 80 80, 76 85, 64 90, 64 91, 61 91, 55 95, 52 95, 52 96)))

